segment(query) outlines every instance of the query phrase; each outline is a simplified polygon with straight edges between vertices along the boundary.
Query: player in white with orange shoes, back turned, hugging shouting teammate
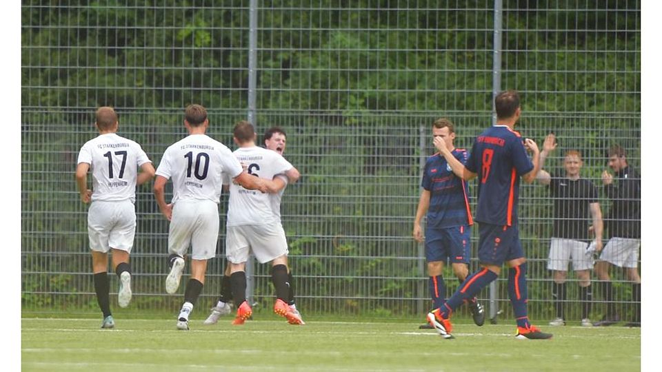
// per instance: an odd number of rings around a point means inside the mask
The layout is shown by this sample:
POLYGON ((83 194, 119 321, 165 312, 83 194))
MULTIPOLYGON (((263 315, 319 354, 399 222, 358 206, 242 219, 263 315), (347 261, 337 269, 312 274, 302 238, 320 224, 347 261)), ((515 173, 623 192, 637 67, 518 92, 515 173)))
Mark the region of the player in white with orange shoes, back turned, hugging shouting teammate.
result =
MULTIPOLYGON (((290 182, 299 179, 299 171, 277 152, 255 145, 255 132, 251 123, 240 121, 234 126, 234 142, 239 149, 234 151, 237 159, 248 169, 248 174, 273 180, 278 174, 285 174, 290 182)), ((283 181, 273 180, 268 192, 279 192, 283 181)), ((243 324, 252 314, 245 299, 245 264, 248 254, 254 254, 260 263, 272 262, 272 281, 276 288, 277 300, 274 312, 288 319, 288 322, 303 323, 301 318, 288 306, 288 242, 277 214, 272 209, 268 194, 251 192, 232 183, 228 203, 227 236, 225 254, 230 262, 230 287, 232 298, 238 304, 237 317, 232 324, 243 324)))

